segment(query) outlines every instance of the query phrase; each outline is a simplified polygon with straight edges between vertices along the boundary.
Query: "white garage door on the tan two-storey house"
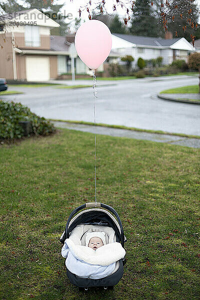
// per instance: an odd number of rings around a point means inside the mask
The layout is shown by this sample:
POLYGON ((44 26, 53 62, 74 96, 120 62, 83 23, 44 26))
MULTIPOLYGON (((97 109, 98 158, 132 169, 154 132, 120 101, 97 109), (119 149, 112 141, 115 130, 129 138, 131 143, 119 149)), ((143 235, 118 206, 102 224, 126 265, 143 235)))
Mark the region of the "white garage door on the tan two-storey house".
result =
POLYGON ((50 79, 49 57, 25 57, 26 80, 47 81, 50 79))

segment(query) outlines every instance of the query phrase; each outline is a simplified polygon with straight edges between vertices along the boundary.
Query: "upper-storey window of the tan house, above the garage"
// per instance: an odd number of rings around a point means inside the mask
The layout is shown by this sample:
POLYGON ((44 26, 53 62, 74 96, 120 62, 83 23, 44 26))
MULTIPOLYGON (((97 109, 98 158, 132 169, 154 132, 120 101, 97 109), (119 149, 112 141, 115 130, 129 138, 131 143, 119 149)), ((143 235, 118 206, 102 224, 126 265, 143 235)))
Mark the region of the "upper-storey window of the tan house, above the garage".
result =
POLYGON ((25 39, 25 46, 39 47, 40 46, 39 27, 26 25, 24 39, 25 39))

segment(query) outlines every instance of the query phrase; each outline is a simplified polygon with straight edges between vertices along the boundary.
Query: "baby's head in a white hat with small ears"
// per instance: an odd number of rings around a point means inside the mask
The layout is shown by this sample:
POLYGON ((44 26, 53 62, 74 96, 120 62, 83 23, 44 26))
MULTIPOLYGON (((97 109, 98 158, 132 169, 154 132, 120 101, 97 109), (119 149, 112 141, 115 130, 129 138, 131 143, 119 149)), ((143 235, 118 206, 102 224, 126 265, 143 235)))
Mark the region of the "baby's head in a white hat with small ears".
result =
POLYGON ((105 232, 88 232, 85 237, 85 245, 94 251, 105 244, 105 232))

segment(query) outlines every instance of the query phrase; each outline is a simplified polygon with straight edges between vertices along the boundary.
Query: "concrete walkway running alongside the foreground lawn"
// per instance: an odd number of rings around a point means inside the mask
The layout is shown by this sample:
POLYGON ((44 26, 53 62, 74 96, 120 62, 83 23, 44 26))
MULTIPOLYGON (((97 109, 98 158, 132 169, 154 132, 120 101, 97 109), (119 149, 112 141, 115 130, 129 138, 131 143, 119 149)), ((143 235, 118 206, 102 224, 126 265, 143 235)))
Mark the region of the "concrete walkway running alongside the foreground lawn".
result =
MULTIPOLYGON (((67 128, 85 132, 94 133, 94 126, 85 124, 75 124, 67 122, 53 121, 54 125, 59 128, 67 128)), ((96 126, 97 134, 105 134, 111 136, 129 137, 135 139, 152 140, 157 142, 165 142, 192 148, 200 148, 200 139, 188 138, 171 134, 150 133, 144 131, 135 131, 128 129, 119 129, 112 127, 96 126)))

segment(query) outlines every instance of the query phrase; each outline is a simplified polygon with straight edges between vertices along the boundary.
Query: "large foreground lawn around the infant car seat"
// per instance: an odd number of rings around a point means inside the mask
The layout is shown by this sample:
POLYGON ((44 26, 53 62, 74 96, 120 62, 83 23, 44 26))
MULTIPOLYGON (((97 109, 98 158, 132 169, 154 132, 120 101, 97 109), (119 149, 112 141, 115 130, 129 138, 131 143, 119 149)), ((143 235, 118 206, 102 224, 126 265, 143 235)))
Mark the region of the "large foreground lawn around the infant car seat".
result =
POLYGON ((94 200, 94 137, 62 129, 0 146, 3 300, 198 300, 200 149, 97 135, 97 201, 121 217, 127 264, 113 291, 78 292, 59 236, 94 200))

